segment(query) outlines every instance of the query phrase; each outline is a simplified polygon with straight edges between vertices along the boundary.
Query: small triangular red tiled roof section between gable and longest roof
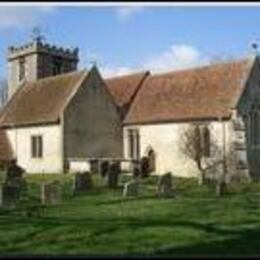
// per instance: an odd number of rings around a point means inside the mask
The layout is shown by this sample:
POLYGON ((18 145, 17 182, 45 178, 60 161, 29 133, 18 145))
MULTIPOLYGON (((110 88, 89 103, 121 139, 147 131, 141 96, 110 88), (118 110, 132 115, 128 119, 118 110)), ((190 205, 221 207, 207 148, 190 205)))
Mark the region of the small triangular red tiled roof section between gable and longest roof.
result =
POLYGON ((119 108, 128 105, 132 101, 134 95, 148 74, 149 72, 145 71, 105 80, 108 90, 119 108))

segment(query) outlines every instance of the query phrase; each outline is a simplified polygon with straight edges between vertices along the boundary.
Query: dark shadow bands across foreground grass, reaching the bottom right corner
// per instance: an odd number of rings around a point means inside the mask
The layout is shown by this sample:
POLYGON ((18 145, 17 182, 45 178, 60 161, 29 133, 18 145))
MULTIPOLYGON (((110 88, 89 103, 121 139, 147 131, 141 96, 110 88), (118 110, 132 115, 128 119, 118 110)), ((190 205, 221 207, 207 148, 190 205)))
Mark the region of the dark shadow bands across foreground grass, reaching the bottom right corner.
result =
MULTIPOLYGON (((214 226, 214 223, 208 223, 208 224, 201 224, 197 222, 192 221, 115 221, 110 220, 107 221, 107 223, 104 225, 100 225, 99 221, 92 220, 91 222, 88 222, 86 219, 82 220, 75 220, 70 219, 63 222, 55 221, 51 218, 44 218, 44 219, 38 219, 38 224, 41 224, 41 227, 38 227, 36 230, 30 232, 29 234, 26 234, 26 239, 33 239, 36 235, 39 236, 40 233, 45 233, 47 229, 51 230, 52 228, 58 227, 57 224, 73 224, 73 225, 84 225, 88 226, 91 225, 91 232, 88 236, 88 239, 98 239, 98 236, 102 234, 111 234, 113 232, 119 232, 120 230, 125 229, 125 225, 129 226, 130 229, 132 228, 143 228, 147 226, 151 227, 183 227, 183 228, 191 228, 191 229, 197 229, 199 231, 204 231, 207 233, 214 233, 215 235, 221 235, 222 240, 221 241, 210 241, 210 242, 201 242, 192 244, 189 246, 182 246, 182 247, 176 247, 174 245, 172 246, 163 246, 161 248, 157 248, 153 251, 149 251, 144 254, 136 254, 136 255, 151 255, 151 256, 224 256, 224 255, 257 255, 259 254, 259 237, 260 237, 260 227, 256 227, 255 229, 252 228, 244 228, 240 230, 225 230, 221 228, 217 228, 214 226), (87 221, 87 222, 86 222, 87 221), (50 226, 46 226, 46 224, 50 226), (86 224, 87 223, 87 224, 86 224), (45 225, 43 225, 45 224, 45 225), (124 224, 124 225, 122 225, 124 224), (94 226, 93 226, 94 225, 94 226)), ((35 221, 33 221, 31 224, 34 224, 35 221)), ((258 224, 258 222, 255 222, 255 224, 258 224)), ((73 228, 71 227, 71 230, 73 228)), ((73 232, 72 232, 73 233, 73 232)), ((73 234, 71 234, 73 237, 73 234)), ((62 237, 62 241, 59 241, 59 243, 71 243, 71 236, 64 236, 62 237)), ((61 237, 60 237, 61 238, 61 237)), ((22 240, 25 239, 25 237, 17 237, 14 242, 22 242, 22 240)), ((50 238, 51 239, 51 238, 50 238)), ((73 238, 73 241, 80 242, 82 239, 85 239, 84 234, 80 237, 73 238)), ((48 240, 48 242, 50 242, 48 240)), ((174 241, 173 241, 174 242, 174 241)), ((31 245, 37 246, 40 245, 42 241, 33 241, 31 245)), ((13 245, 11 246, 8 251, 11 249, 19 250, 23 247, 28 247, 30 249, 29 245, 13 245)), ((24 248, 24 249, 25 249, 24 248)))

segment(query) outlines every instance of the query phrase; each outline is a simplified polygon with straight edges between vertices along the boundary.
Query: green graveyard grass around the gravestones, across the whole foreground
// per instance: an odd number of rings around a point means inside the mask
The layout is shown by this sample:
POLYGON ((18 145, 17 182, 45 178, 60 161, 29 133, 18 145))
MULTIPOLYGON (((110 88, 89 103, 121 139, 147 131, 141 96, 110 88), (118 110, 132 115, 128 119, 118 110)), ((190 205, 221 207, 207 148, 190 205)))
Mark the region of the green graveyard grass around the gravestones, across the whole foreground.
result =
MULTIPOLYGON (((120 176, 124 183, 129 176, 120 176)), ((1 255, 256 255, 260 252, 260 183, 234 184, 217 198, 194 179, 176 179, 174 199, 155 197, 156 177, 142 181, 139 198, 122 198, 122 186, 71 194, 72 175, 27 177, 29 194, 59 179, 61 205, 40 216, 0 215, 1 255)))

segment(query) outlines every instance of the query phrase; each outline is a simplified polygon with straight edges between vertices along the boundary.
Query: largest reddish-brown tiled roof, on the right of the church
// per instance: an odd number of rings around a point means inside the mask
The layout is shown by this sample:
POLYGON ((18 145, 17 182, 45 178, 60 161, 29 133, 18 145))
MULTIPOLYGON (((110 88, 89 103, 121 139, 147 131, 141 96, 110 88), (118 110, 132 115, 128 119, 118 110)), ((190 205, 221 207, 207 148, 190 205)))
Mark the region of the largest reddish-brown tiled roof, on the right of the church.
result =
POLYGON ((229 117, 253 59, 218 63, 146 78, 125 124, 229 117))

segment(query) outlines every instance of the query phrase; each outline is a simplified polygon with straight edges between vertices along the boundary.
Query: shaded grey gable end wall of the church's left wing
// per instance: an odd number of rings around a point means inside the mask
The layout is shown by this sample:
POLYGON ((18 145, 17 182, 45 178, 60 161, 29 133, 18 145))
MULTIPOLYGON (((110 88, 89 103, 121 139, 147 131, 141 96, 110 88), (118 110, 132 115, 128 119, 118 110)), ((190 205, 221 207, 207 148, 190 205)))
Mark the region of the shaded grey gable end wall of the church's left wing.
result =
POLYGON ((122 156, 120 115, 96 69, 64 113, 65 158, 122 156))

